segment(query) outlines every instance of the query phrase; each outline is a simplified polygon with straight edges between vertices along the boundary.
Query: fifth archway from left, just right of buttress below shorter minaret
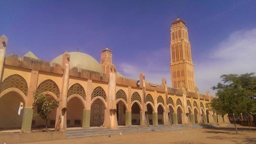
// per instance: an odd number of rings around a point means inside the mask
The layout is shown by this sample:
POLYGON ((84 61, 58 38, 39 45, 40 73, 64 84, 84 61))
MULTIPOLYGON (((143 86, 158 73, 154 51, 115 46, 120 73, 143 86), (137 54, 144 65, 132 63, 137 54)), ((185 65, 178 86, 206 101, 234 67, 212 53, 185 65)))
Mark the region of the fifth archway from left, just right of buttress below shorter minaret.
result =
POLYGON ((117 104, 116 104, 116 117, 117 117, 117 122, 118 122, 118 125, 123 125, 125 126, 125 120, 126 120, 126 106, 124 104, 123 101, 119 101, 117 104))

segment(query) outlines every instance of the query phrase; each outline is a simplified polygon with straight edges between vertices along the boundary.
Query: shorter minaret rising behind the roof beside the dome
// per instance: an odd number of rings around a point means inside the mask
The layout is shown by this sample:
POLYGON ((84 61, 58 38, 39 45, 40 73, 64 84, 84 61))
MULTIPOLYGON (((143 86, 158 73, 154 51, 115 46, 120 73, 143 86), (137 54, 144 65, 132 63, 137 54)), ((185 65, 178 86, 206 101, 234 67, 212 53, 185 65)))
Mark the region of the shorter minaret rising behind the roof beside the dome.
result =
POLYGON ((106 47, 101 51, 101 67, 104 73, 106 73, 109 64, 112 64, 112 51, 106 47))

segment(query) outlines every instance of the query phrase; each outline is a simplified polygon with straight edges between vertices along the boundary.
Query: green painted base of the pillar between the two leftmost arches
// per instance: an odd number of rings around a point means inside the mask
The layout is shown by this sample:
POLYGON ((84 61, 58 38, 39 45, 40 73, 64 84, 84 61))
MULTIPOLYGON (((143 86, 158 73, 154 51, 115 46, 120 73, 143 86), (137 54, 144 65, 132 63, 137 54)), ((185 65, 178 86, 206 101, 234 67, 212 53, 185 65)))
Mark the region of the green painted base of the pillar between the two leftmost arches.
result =
POLYGON ((33 118, 33 108, 24 108, 21 131, 30 132, 33 118))

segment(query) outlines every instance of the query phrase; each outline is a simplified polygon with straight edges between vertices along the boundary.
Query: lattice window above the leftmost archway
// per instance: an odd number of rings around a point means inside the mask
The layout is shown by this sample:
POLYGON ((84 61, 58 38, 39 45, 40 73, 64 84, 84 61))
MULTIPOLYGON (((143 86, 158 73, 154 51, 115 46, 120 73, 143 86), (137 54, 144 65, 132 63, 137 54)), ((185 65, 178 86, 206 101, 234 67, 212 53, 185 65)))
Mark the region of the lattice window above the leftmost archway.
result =
POLYGON ((6 79, 4 79, 3 82, 0 83, 0 93, 7 88, 18 88, 25 94, 25 96, 27 96, 27 82, 23 77, 19 76, 18 74, 8 76, 6 79))

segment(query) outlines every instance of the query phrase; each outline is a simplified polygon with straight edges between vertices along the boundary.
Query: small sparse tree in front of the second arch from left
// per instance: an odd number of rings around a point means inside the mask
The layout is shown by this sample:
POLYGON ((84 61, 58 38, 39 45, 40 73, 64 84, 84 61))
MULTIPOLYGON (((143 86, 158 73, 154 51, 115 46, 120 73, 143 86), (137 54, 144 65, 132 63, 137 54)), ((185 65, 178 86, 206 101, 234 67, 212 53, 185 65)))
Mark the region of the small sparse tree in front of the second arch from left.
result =
POLYGON ((60 104, 60 100, 50 100, 51 96, 43 93, 34 92, 33 97, 35 102, 33 106, 37 106, 37 113, 35 115, 39 115, 46 124, 45 129, 47 130, 48 119, 50 118, 50 112, 52 109, 56 108, 60 104))

